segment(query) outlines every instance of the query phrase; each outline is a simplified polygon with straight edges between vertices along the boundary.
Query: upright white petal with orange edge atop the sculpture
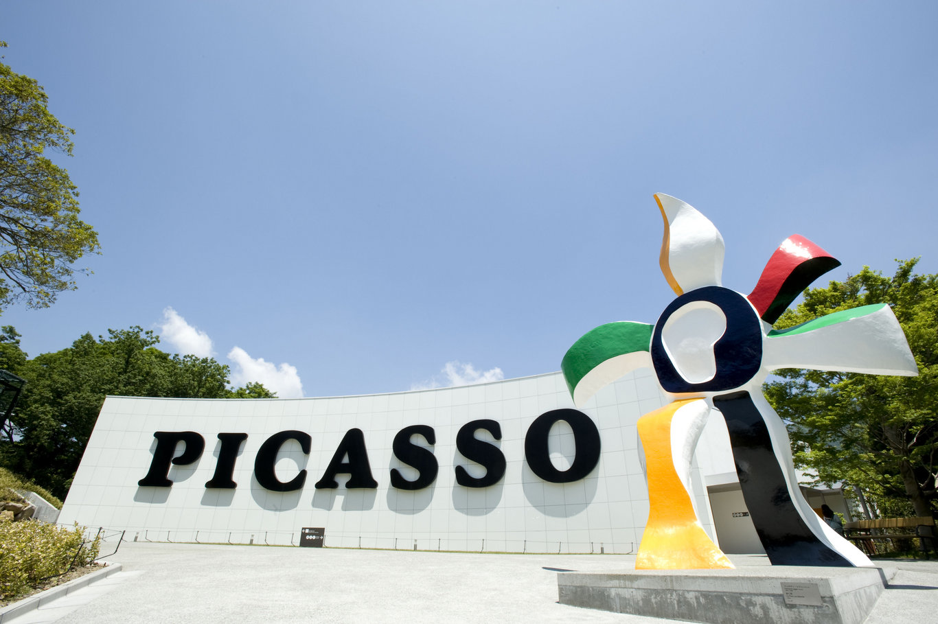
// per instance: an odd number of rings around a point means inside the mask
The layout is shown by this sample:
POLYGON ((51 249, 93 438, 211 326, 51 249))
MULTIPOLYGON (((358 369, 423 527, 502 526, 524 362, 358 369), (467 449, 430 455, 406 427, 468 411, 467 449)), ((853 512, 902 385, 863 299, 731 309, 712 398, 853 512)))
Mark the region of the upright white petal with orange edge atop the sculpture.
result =
POLYGON ((721 285, 725 246, 717 226, 676 197, 656 193, 655 200, 664 218, 661 272, 674 292, 721 285))

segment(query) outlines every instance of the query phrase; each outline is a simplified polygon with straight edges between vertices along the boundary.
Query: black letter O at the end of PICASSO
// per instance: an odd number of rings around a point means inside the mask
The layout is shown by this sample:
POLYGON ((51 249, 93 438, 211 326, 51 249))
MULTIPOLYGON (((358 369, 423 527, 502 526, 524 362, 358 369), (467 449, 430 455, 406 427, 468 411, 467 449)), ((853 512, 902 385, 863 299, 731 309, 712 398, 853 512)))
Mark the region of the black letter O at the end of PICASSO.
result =
POLYGON ((599 464, 599 430, 596 423, 576 409, 553 409, 535 419, 524 436, 524 459, 531 471, 545 481, 570 483, 584 478, 599 464), (564 420, 573 430, 576 456, 567 470, 558 470, 551 462, 548 437, 551 428, 564 420))

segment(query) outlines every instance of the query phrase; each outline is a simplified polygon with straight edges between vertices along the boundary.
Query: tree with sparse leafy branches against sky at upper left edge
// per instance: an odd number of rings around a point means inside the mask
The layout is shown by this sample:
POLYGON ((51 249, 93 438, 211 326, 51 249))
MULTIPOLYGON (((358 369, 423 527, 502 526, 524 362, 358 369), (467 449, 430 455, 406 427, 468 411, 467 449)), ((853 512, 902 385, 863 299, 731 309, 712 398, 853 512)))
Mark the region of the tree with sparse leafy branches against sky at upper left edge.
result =
POLYGON ((68 172, 46 156, 71 156, 74 134, 47 102, 36 80, 0 63, 0 310, 21 299, 50 305, 76 287, 73 264, 99 249, 68 172))

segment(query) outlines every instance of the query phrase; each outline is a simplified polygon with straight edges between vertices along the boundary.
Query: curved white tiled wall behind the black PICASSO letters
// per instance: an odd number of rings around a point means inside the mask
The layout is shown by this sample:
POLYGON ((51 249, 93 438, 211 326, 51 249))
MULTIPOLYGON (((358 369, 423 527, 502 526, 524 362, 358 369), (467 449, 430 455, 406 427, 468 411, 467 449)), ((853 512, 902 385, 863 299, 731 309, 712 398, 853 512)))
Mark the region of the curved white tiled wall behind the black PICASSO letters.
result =
MULTIPOLYGON (((506 552, 629 553, 638 548, 648 495, 637 450, 636 421, 667 403, 649 371, 603 388, 581 411, 598 426, 598 466, 571 483, 539 479, 524 461, 524 436, 541 414, 572 408, 560 373, 461 388, 320 399, 182 400, 108 397, 59 519, 90 527, 127 529, 127 539, 297 543, 304 526, 325 527, 328 546, 506 552), (480 466, 456 449, 456 434, 476 419, 496 420, 507 460, 505 478, 487 488, 457 484, 454 466, 473 476, 480 466), (395 434, 431 425, 439 473, 414 492, 391 487, 389 471, 416 472, 391 451, 395 434), (350 429, 364 432, 376 489, 316 490, 325 467, 350 429), (309 455, 288 441, 276 471, 281 481, 308 471, 304 486, 278 493, 253 477, 254 459, 272 434, 299 430, 312 438, 309 455), (154 432, 194 431, 205 448, 194 464, 174 465, 172 487, 141 487, 156 447, 154 432), (219 454, 219 433, 248 434, 234 466, 234 490, 206 489, 219 454)), ((481 439, 483 435, 477 434, 481 439)), ((419 440, 419 437, 415 438, 419 440)), ((181 445, 180 445, 181 447, 181 445)), ((429 448, 429 447, 428 447, 429 448)), ((576 449, 566 423, 552 429, 552 463, 566 469, 576 449)), ((177 449, 176 453, 181 452, 177 449)), ((703 455, 729 455, 708 444, 703 455)), ((713 537, 704 479, 693 473, 695 504, 713 537)))

